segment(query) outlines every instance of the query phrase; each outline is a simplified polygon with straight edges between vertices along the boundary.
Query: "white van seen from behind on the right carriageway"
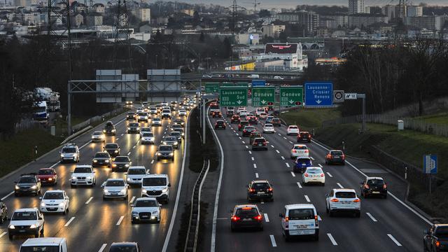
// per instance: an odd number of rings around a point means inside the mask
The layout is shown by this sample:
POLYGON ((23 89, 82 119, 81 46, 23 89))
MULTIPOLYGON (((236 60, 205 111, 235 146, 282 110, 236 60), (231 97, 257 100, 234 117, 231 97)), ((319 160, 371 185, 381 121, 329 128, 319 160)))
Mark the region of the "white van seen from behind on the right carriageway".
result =
POLYGON ((287 204, 279 216, 286 241, 298 236, 309 236, 318 241, 318 212, 314 204, 287 204))

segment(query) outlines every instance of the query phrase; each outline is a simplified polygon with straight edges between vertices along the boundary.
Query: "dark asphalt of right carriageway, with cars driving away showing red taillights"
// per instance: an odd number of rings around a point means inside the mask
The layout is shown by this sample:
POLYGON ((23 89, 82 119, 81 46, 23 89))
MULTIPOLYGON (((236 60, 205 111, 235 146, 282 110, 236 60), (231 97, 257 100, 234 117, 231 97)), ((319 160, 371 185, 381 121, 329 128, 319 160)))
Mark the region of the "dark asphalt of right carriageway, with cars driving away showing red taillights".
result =
MULTIPOLYGON (((248 111, 253 109, 248 108, 248 111)), ((225 111, 222 111, 225 115, 225 111)), ((237 124, 224 118, 226 130, 215 130, 223 148, 223 176, 216 216, 215 251, 421 251, 423 230, 430 222, 409 209, 398 198, 361 198, 361 217, 331 217, 325 213, 325 194, 332 188, 353 188, 372 164, 347 159, 346 165, 325 165, 324 146, 307 144, 314 166, 323 167, 325 186, 303 186, 302 174, 292 172, 290 149, 295 136, 286 135, 286 127, 276 127, 275 134, 263 134, 268 151, 251 151, 248 137, 241 137, 237 124), (274 202, 257 202, 264 215, 264 231, 230 231, 230 210, 246 204, 246 185, 255 179, 267 179, 274 188, 274 202), (320 239, 297 239, 286 242, 281 233, 279 213, 285 204, 311 203, 319 212, 320 239)), ((218 119, 209 117, 211 125, 218 119)), ((262 122, 262 120, 261 120, 262 122)), ((262 132, 262 125, 256 125, 262 132)), ((374 167, 374 166, 373 166, 374 167)), ((392 193, 392 194, 391 194, 392 193)), ((215 243, 214 243, 215 242, 215 243)))

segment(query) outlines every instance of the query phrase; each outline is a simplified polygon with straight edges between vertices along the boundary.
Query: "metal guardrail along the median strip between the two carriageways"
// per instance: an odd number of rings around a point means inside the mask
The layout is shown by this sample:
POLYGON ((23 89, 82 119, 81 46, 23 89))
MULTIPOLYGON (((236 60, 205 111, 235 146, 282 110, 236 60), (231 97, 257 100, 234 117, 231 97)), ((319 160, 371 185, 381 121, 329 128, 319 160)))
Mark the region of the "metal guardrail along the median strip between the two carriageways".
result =
POLYGON ((201 190, 207 173, 210 169, 210 160, 204 160, 201 173, 197 177, 190 202, 190 221, 188 223, 187 237, 184 252, 195 252, 197 250, 197 235, 199 233, 201 213, 201 190), (207 169, 206 169, 207 164, 207 169))

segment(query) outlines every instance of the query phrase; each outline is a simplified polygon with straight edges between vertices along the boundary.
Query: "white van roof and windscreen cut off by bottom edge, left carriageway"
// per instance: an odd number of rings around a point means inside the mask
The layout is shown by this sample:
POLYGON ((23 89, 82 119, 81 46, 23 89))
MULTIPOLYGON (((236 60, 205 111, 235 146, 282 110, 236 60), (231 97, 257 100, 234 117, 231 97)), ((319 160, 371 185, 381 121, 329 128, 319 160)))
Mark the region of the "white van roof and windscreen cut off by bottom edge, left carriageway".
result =
POLYGON ((20 252, 34 251, 67 252, 67 241, 62 237, 30 238, 20 246, 20 252))

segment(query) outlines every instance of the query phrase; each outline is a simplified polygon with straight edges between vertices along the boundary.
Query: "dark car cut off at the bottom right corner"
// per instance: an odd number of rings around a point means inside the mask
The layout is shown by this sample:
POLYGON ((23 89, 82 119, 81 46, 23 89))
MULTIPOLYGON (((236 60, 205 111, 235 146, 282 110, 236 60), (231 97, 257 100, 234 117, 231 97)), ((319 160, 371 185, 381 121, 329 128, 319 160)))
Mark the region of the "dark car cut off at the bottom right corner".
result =
POLYGON ((423 251, 448 251, 448 224, 433 224, 429 230, 425 230, 423 251))

